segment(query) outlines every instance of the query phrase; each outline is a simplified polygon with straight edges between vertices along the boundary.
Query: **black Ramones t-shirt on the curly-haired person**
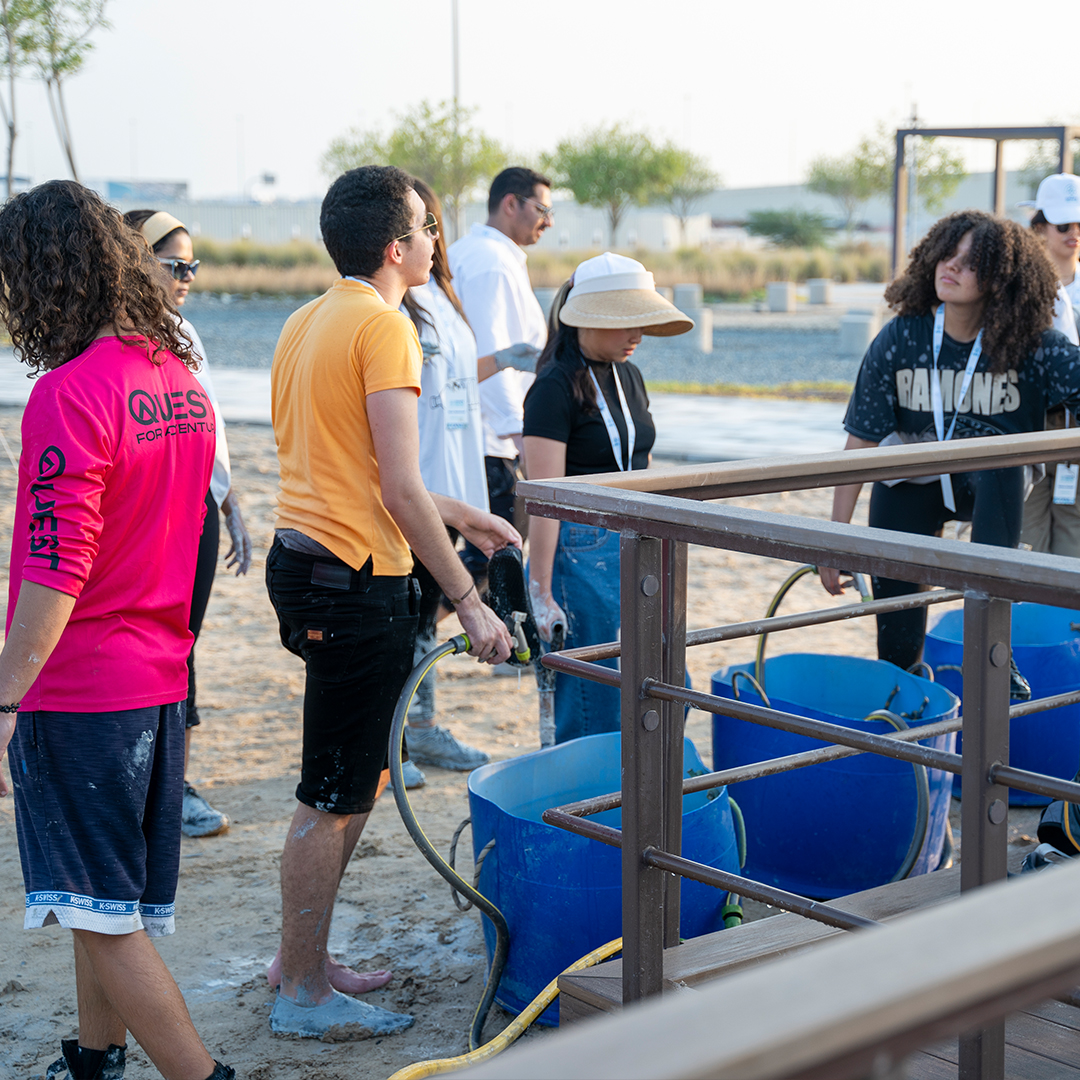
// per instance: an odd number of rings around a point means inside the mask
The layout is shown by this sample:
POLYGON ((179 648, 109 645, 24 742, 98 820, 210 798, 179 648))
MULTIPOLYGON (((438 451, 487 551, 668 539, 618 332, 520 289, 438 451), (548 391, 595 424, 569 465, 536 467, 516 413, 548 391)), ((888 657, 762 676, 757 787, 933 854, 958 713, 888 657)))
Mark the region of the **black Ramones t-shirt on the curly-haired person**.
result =
MULTIPOLYGON (((930 375, 933 368, 934 316, 893 319, 863 357, 843 427, 856 438, 878 443, 890 432, 909 435, 933 432, 930 375)), ((937 367, 942 379, 945 430, 956 411, 963 370, 973 342, 942 341, 937 367)), ((1080 350, 1057 330, 1045 330, 1042 342, 1023 364, 1000 375, 988 370, 994 357, 980 357, 968 396, 957 416, 954 438, 1011 435, 1042 431, 1047 410, 1055 405, 1080 406, 1080 350)))

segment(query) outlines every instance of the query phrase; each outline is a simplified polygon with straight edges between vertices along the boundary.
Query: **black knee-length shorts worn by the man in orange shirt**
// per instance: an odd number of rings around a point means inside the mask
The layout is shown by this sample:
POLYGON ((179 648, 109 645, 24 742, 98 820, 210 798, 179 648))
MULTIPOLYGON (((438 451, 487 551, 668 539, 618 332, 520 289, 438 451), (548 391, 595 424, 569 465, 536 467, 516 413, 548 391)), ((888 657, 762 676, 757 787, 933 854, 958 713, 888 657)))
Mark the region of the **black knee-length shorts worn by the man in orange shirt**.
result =
POLYGON ((303 660, 303 754, 297 801, 367 813, 388 767, 394 706, 413 671, 419 589, 286 548, 267 556, 281 644, 303 660))

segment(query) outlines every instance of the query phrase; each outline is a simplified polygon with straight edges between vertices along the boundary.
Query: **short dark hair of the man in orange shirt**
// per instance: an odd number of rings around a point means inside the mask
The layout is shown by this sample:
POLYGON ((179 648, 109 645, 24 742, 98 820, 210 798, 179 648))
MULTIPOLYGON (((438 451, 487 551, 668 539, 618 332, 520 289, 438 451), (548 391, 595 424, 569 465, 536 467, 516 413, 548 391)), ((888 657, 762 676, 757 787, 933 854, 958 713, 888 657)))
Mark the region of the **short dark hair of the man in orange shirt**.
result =
POLYGON ((413 177, 394 165, 362 165, 342 173, 323 199, 319 228, 342 278, 370 278, 387 245, 413 228, 413 177))

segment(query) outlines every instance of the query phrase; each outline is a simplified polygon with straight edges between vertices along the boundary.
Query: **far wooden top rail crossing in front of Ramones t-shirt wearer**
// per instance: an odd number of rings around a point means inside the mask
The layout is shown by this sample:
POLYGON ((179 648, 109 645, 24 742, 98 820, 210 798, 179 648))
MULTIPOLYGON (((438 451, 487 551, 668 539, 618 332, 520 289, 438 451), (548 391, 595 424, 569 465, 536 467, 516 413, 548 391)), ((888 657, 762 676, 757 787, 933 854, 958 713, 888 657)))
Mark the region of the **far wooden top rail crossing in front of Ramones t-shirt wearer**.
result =
MULTIPOLYGON (((837 442, 839 442, 837 433, 837 442)), ((971 472, 1005 465, 1038 464, 1078 457, 1080 428, 1036 431, 1021 435, 957 438, 947 443, 836 450, 833 454, 793 454, 753 461, 669 465, 634 472, 575 476, 575 484, 611 487, 684 499, 724 499, 770 491, 799 491, 835 484, 859 484, 897 476, 930 476, 940 472, 971 472)), ((535 484, 518 485, 518 492, 535 484)))

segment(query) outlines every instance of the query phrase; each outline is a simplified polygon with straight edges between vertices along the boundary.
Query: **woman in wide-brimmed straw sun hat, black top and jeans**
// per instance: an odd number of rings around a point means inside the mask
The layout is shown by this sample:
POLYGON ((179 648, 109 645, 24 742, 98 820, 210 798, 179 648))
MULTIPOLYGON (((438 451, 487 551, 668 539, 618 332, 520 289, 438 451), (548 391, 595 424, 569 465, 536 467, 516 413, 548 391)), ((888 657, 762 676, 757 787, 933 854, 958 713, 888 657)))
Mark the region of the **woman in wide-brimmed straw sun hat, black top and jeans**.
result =
MULTIPOLYGON (((645 381, 630 357, 643 334, 669 337, 692 328, 640 262, 611 252, 582 262, 552 305, 548 343, 525 397, 529 480, 646 469, 656 428, 645 381)), ((529 543, 529 596, 540 636, 550 642, 561 623, 567 648, 615 640, 619 534, 534 517, 529 543)), ((619 726, 618 689, 556 677, 556 743, 619 726)))

